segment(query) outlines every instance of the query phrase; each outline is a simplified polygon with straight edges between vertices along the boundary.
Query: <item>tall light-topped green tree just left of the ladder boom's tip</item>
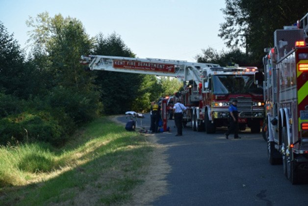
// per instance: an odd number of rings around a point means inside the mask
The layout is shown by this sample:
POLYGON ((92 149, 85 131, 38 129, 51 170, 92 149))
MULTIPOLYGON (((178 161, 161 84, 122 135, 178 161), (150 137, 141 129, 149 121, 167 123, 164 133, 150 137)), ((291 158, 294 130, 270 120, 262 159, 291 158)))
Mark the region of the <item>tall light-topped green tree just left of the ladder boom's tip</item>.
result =
POLYGON ((79 63, 80 56, 92 48, 82 23, 60 14, 51 18, 45 12, 27 24, 33 27, 29 32, 29 42, 34 42, 33 62, 52 78, 46 101, 77 124, 91 120, 99 112, 100 102, 94 73, 84 71, 79 63))

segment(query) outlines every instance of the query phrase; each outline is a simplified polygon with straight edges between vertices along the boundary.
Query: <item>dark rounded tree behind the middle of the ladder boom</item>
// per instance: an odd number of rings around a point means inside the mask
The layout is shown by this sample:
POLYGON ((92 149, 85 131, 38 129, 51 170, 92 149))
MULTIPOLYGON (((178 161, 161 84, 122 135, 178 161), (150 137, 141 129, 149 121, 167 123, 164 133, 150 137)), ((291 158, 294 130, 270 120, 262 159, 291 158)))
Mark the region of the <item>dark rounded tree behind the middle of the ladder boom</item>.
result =
MULTIPOLYGON (((116 33, 107 37, 104 37, 102 33, 97 35, 94 54, 118 57, 135 56, 116 33)), ((97 71, 96 74, 96 84, 101 88, 101 98, 106 114, 123 114, 133 108, 137 98, 142 99, 139 95, 143 94, 139 91, 145 75, 108 71, 97 71)), ((134 108, 137 111, 143 110, 142 107, 134 108)))

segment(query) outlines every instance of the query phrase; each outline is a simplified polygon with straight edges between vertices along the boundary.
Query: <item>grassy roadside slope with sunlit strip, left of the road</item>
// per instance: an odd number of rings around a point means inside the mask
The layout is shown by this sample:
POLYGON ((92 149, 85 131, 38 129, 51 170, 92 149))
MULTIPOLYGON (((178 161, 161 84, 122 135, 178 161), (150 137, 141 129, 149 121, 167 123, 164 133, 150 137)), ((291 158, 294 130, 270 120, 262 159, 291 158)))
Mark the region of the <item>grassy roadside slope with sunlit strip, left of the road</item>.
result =
POLYGON ((0 148, 0 205, 113 205, 143 182, 152 145, 107 118, 88 124, 61 149, 0 148))

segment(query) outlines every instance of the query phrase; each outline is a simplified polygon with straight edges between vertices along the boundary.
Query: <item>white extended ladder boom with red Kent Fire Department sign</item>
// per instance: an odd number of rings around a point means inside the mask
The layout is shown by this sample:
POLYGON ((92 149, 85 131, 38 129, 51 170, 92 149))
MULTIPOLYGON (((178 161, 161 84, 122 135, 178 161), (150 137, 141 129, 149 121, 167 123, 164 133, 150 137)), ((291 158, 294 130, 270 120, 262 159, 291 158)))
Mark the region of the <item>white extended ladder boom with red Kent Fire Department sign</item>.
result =
POLYGON ((176 77, 183 81, 202 80, 202 69, 218 67, 219 64, 197 63, 170 59, 139 59, 113 56, 81 56, 81 63, 88 64, 90 70, 128 72, 176 77))

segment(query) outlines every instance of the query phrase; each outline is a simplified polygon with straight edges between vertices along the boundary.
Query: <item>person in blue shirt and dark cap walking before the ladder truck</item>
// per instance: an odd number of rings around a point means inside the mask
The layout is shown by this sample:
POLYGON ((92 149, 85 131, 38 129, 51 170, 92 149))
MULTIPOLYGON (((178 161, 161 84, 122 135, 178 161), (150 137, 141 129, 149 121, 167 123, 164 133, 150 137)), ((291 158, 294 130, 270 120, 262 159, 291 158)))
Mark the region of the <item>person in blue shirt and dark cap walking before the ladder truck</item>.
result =
POLYGON ((234 139, 240 138, 238 136, 238 111, 237 111, 237 100, 233 99, 232 104, 229 107, 229 122, 230 127, 226 132, 226 139, 229 139, 229 135, 231 132, 234 132, 234 139))

